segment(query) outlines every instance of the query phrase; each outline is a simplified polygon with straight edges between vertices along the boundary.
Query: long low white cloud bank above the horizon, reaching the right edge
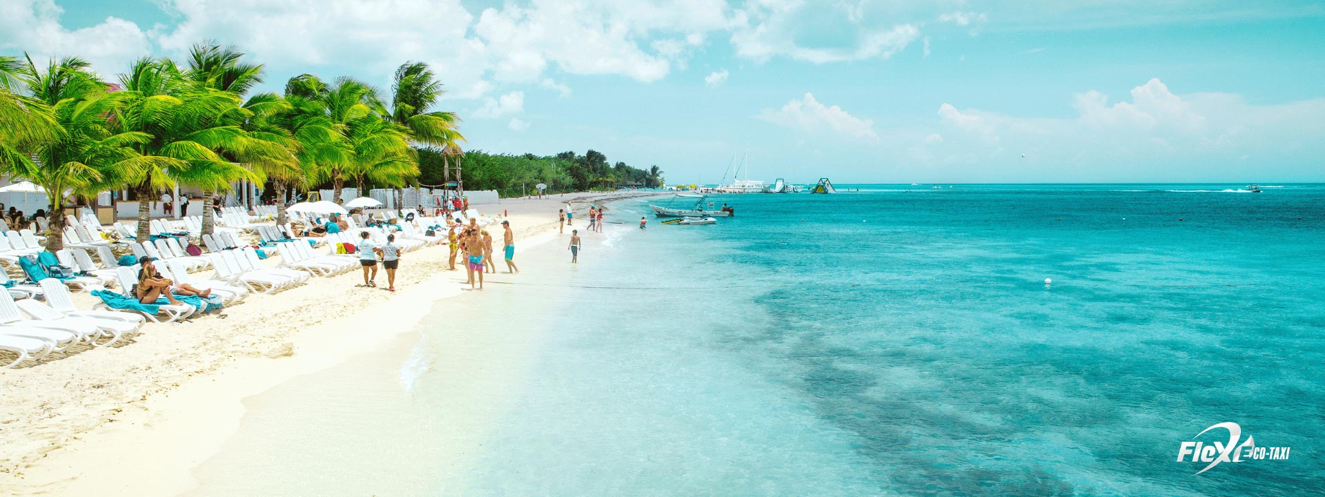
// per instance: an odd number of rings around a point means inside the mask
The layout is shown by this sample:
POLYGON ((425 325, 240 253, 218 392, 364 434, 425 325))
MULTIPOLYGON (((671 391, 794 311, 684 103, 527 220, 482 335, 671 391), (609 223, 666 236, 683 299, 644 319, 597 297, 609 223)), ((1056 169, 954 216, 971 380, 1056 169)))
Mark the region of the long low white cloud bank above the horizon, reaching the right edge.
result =
MULTIPOLYGON (((1110 168, 1133 167, 1138 170, 1130 174, 1154 178, 1162 171, 1140 170, 1141 164, 1199 162, 1232 167, 1230 158, 1253 155, 1261 158, 1261 167, 1272 168, 1276 159, 1287 163, 1295 155, 1325 154, 1320 138, 1325 137, 1325 122, 1318 118, 1325 113, 1325 98, 1252 105, 1226 93, 1179 95, 1155 78, 1132 89, 1128 101, 1113 102, 1090 90, 1075 95, 1073 105, 1075 117, 1039 118, 943 103, 938 109, 943 156, 988 163, 1034 151, 1031 156, 1064 167, 1113 164, 1110 168)), ((1208 167, 1200 171, 1218 172, 1208 167)))

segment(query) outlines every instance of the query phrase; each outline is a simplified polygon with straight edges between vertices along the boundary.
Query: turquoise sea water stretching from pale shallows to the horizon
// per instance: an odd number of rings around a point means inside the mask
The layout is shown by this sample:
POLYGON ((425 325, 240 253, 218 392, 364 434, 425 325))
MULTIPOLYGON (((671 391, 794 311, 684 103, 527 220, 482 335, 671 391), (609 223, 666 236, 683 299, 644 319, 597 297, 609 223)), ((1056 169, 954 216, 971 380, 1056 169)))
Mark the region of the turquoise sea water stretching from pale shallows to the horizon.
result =
POLYGON ((857 187, 617 204, 448 493, 1325 492, 1325 186, 857 187))

